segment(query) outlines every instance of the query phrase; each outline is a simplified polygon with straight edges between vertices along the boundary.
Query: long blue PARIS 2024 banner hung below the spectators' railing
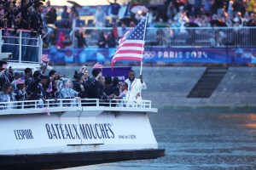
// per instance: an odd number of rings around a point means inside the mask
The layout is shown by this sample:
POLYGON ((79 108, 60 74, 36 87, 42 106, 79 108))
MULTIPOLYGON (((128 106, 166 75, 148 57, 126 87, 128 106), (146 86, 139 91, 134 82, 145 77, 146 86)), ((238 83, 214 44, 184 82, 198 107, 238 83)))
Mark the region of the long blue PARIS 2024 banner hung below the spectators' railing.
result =
MULTIPOLYGON (((116 48, 44 49, 55 65, 110 63, 116 48)), ((118 61, 120 63, 127 61, 118 61)), ((145 48, 144 63, 248 64, 256 63, 256 48, 145 48)))

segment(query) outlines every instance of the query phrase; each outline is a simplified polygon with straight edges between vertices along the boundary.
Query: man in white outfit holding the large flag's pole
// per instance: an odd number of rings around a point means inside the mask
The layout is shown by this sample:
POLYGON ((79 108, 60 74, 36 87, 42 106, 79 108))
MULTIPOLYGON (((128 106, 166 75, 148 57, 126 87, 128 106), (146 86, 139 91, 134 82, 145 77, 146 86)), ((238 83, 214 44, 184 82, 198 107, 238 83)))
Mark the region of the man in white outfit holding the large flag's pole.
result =
POLYGON ((142 90, 147 89, 147 85, 143 82, 143 76, 140 75, 139 78, 135 78, 135 71, 130 71, 128 74, 128 78, 125 82, 128 83, 128 92, 130 92, 129 99, 142 99, 142 90))

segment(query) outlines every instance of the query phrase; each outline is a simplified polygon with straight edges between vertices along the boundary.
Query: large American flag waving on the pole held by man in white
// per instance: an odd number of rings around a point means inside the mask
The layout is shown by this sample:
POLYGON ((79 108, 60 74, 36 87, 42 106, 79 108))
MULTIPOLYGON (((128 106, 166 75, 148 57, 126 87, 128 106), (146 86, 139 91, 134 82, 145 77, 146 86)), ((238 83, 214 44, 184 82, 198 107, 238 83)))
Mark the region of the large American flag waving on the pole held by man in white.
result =
POLYGON ((147 20, 142 20, 134 29, 129 30, 119 39, 119 47, 113 54, 111 65, 117 60, 143 60, 144 35, 147 20))

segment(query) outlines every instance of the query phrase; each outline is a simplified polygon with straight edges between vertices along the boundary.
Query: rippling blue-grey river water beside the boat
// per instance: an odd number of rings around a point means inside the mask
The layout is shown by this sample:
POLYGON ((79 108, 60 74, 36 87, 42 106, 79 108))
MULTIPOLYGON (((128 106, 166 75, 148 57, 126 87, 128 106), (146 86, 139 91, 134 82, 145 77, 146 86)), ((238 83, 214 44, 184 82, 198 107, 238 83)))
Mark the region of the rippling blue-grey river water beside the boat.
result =
POLYGON ((172 109, 148 117, 166 156, 67 169, 256 169, 256 114, 172 109))

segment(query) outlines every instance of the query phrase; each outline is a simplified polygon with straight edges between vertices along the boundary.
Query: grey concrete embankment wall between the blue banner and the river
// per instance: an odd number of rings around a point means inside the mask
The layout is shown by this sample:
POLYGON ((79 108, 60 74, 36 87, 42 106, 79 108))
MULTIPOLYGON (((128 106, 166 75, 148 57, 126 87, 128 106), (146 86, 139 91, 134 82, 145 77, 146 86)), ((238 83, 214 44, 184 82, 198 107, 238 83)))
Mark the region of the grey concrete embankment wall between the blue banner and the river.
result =
MULTIPOLYGON (((139 67, 132 68, 139 75, 139 67)), ((187 98, 207 67, 143 66, 143 79, 148 89, 143 99, 154 107, 245 107, 256 108, 256 68, 229 67, 218 87, 209 98, 187 98)), ((66 77, 73 77, 79 66, 55 66, 66 77)), ((91 67, 89 67, 91 71, 91 67)))

